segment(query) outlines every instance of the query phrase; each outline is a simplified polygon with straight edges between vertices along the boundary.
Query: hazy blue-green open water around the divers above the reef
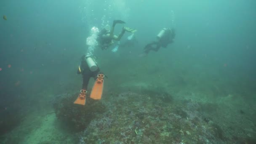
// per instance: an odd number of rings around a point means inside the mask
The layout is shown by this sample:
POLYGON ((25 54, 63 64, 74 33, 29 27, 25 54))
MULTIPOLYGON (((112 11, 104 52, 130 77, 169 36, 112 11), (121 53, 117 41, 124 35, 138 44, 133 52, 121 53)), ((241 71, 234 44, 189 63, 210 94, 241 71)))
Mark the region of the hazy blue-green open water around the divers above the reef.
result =
POLYGON ((139 45, 117 53, 95 51, 109 77, 106 91, 143 82, 209 99, 231 93, 254 103, 255 5, 255 0, 2 0, 0 14, 7 21, 0 21, 0 107, 34 107, 45 98, 26 101, 43 91, 79 91, 76 70, 87 51, 86 37, 92 26, 101 28, 114 19, 138 29, 139 45), (163 27, 175 27, 175 42, 139 57, 163 27), (213 88, 222 92, 216 95, 213 88), (20 97, 24 101, 15 101, 20 97))

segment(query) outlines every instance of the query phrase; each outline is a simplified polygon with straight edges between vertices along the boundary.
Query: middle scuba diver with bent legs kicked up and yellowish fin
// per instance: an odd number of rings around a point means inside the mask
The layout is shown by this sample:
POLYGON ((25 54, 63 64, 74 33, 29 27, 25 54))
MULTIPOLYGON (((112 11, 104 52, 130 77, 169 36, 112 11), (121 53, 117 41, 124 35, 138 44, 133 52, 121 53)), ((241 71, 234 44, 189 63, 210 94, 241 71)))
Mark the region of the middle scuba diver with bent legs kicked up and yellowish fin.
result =
POLYGON ((99 47, 102 50, 109 48, 109 46, 114 43, 113 40, 120 41, 123 35, 125 34, 125 31, 131 32, 131 33, 134 33, 137 31, 136 29, 123 27, 122 32, 117 36, 117 35, 114 35, 114 29, 116 24, 125 24, 125 22, 121 20, 114 20, 111 29, 109 25, 106 25, 104 29, 102 29, 101 32, 99 33, 98 35, 99 37, 97 38, 97 41, 98 41, 99 47))

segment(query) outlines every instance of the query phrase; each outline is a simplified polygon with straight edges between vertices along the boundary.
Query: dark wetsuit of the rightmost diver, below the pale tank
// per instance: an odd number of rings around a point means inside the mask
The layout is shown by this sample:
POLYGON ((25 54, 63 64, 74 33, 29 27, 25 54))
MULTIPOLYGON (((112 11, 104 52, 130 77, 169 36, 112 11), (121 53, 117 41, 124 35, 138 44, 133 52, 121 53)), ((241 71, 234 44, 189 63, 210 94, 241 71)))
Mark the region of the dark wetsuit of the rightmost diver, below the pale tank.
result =
POLYGON ((161 37, 159 40, 147 44, 144 47, 144 52, 149 53, 149 51, 158 51, 161 47, 166 48, 168 44, 173 43, 175 37, 174 29, 169 29, 166 34, 161 37))

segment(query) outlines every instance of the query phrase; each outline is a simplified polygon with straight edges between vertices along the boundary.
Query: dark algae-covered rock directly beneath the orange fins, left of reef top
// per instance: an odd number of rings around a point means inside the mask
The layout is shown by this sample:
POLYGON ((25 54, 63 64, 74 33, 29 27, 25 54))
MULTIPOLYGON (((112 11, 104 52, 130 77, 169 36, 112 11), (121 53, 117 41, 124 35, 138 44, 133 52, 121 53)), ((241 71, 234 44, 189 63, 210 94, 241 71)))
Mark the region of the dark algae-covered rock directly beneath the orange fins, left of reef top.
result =
POLYGON ((86 99, 85 106, 73 104, 77 96, 78 94, 71 97, 60 97, 58 101, 55 101, 53 107, 61 123, 73 131, 83 131, 91 120, 105 111, 105 107, 101 101, 89 97, 86 99))

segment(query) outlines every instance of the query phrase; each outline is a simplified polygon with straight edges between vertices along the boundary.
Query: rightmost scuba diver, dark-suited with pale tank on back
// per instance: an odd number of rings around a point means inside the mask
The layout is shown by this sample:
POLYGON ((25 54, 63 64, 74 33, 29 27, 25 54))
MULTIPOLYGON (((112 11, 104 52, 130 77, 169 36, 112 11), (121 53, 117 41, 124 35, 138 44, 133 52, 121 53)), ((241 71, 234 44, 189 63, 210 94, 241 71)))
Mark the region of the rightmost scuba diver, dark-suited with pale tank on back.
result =
POLYGON ((157 41, 144 47, 144 55, 147 55, 149 51, 158 51, 161 47, 166 48, 168 44, 173 43, 175 35, 175 29, 163 28, 157 35, 157 41))

